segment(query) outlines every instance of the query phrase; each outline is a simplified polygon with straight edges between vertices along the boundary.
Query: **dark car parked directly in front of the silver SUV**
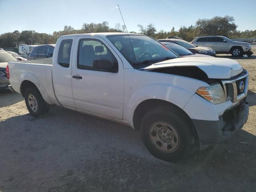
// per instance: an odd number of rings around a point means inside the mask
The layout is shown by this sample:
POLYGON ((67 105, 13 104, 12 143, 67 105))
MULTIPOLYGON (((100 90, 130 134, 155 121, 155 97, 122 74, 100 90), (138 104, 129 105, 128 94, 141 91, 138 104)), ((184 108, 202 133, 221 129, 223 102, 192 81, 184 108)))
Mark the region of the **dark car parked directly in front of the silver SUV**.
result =
POLYGON ((158 41, 160 42, 172 42, 176 43, 182 47, 187 48, 190 50, 192 53, 198 53, 198 54, 204 54, 204 55, 210 55, 210 56, 216 56, 216 52, 209 47, 203 47, 203 46, 195 46, 185 40, 182 39, 159 39, 158 41))

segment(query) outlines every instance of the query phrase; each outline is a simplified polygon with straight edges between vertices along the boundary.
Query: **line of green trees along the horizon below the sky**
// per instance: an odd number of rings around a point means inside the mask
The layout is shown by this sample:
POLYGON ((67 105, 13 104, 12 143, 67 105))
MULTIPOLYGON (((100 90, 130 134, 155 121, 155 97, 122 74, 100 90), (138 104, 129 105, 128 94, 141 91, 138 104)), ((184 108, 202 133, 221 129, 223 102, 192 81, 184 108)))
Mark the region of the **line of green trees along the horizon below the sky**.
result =
MULTIPOLYGON (((170 31, 160 30, 157 32, 154 24, 147 26, 138 24, 138 33, 151 36, 155 39, 163 39, 169 36, 178 36, 187 41, 192 41, 197 36, 221 35, 228 38, 256 38, 256 30, 236 30, 237 25, 232 16, 215 16, 210 19, 198 19, 194 25, 181 26, 178 30, 174 27, 170 31)), ((55 44, 62 35, 94 33, 94 32, 126 32, 124 25, 117 23, 114 28, 110 27, 107 21, 102 23, 84 23, 80 29, 71 26, 64 26, 64 30, 54 31, 52 34, 38 33, 34 30, 19 32, 8 32, 0 35, 0 47, 13 47, 15 42, 38 42, 40 44, 55 44)), ((130 33, 136 33, 130 31, 130 33)))

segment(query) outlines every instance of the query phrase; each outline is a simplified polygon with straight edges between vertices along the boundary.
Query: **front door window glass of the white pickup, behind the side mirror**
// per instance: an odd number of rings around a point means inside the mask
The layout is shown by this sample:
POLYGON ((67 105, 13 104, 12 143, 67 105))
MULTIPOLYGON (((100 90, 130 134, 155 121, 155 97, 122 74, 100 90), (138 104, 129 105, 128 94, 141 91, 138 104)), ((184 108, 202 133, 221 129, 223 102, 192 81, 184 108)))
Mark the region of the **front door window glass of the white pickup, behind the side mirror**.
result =
POLYGON ((99 40, 82 39, 78 49, 78 69, 96 70, 93 62, 97 59, 109 60, 112 64, 117 63, 112 52, 99 40))

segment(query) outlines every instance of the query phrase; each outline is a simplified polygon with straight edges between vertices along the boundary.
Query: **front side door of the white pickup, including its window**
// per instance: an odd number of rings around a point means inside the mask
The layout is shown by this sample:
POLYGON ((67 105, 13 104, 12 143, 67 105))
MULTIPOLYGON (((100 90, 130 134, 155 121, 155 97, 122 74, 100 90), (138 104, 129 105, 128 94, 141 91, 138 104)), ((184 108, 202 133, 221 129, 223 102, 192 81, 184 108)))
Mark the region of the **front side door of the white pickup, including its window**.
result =
POLYGON ((72 91, 76 109, 122 120, 123 64, 114 50, 98 37, 77 37, 72 60, 72 91), (118 72, 93 68, 95 59, 118 62, 118 72))

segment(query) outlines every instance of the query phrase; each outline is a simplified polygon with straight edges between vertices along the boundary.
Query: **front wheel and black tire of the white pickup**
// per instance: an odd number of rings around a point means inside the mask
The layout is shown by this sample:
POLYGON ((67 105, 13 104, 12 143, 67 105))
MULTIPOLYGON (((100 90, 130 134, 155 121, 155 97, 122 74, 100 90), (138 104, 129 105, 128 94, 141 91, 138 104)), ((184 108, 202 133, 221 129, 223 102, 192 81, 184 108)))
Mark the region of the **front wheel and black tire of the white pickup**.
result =
POLYGON ((195 149, 191 126, 177 108, 160 106, 145 114, 140 132, 144 145, 152 155, 176 163, 195 149))

